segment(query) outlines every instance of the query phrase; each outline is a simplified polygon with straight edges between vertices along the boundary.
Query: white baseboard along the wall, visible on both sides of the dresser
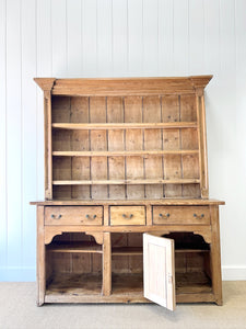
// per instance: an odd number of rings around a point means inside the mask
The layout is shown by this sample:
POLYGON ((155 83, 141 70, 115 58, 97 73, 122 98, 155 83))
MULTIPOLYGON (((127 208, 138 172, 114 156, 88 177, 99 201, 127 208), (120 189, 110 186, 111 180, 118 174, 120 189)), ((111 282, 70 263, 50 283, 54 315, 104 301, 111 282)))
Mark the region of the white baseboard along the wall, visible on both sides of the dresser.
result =
MULTIPOLYGON (((36 280, 35 268, 0 268, 0 281, 27 282, 36 280)), ((223 281, 246 280, 246 266, 222 266, 223 281)))

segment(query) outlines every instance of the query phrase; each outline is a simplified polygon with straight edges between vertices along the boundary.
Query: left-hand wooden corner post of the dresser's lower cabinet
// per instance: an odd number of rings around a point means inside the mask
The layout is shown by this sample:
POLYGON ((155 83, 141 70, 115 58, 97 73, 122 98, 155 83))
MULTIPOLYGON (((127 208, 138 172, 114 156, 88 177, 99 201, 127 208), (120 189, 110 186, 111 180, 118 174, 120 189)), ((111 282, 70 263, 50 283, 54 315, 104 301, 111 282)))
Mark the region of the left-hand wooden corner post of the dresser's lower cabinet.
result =
POLYGON ((45 303, 45 228, 44 206, 37 207, 37 306, 45 303))

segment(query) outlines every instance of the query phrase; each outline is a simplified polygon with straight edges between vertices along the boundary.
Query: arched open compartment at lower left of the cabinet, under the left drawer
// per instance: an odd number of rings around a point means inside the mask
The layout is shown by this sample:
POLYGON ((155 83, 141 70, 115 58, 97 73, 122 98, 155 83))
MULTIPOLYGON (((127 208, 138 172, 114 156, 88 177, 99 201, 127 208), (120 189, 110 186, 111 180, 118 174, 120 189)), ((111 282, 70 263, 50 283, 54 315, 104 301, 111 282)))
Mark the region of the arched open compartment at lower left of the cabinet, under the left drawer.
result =
POLYGON ((92 236, 56 236, 46 246, 46 295, 99 295, 102 253, 102 246, 92 236))

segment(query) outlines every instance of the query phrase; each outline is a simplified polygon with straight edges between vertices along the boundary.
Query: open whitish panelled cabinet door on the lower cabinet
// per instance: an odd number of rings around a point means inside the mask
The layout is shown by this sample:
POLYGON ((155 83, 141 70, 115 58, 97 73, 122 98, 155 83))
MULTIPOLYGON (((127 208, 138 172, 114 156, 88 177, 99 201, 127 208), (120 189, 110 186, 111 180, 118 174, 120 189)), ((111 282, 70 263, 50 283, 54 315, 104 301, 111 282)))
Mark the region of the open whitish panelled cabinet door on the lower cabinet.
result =
POLYGON ((143 234, 144 297, 175 309, 174 240, 143 234))

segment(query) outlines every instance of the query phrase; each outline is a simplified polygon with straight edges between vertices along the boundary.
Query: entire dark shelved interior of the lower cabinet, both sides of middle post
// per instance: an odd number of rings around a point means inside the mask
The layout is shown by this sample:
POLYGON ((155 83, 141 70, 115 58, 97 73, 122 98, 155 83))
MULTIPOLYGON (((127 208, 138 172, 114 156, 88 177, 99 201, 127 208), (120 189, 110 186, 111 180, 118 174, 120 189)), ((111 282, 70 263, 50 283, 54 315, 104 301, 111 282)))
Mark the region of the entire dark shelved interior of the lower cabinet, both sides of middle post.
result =
MULTIPOLYGON (((199 235, 172 232, 175 241, 176 293, 211 292, 210 245, 199 235)), ((141 232, 112 232, 112 293, 143 294, 141 232)), ((77 232, 56 236, 46 247, 48 293, 101 294, 103 248, 94 237, 77 232)), ((161 260, 160 260, 161 261, 161 260)))

